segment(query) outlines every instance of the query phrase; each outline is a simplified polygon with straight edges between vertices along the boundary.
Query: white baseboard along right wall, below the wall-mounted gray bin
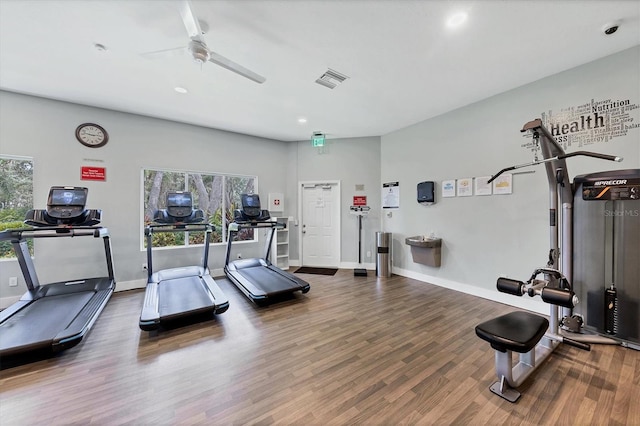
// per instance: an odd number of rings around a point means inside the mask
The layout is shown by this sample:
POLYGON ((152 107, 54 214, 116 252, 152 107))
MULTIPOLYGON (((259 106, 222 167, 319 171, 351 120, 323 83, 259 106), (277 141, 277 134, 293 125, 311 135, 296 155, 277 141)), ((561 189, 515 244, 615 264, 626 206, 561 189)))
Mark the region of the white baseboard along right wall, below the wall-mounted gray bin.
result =
POLYGON ((487 290, 470 284, 463 284, 457 281, 451 281, 444 278, 433 277, 431 275, 421 274, 419 272, 409 271, 401 268, 392 268, 392 272, 407 278, 413 278, 439 287, 445 287, 451 290, 470 294, 472 296, 482 297, 483 299, 492 300, 494 302, 503 303, 505 305, 514 306, 516 308, 525 309, 527 311, 536 312, 542 315, 549 315, 549 305, 540 301, 531 299, 529 296, 512 296, 500 293, 498 290, 487 290))

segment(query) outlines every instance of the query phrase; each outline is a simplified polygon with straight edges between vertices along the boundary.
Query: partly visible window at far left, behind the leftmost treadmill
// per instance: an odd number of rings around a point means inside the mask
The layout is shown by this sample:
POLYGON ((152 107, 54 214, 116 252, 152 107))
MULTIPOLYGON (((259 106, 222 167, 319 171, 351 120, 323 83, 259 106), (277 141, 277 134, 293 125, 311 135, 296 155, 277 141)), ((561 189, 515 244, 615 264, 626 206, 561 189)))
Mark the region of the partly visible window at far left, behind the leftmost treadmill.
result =
MULTIPOLYGON (((24 227, 24 217, 33 208, 33 160, 0 156, 0 231, 24 227)), ((29 240, 33 254, 33 240, 29 240)), ((14 258, 11 242, 0 242, 0 259, 14 258)))

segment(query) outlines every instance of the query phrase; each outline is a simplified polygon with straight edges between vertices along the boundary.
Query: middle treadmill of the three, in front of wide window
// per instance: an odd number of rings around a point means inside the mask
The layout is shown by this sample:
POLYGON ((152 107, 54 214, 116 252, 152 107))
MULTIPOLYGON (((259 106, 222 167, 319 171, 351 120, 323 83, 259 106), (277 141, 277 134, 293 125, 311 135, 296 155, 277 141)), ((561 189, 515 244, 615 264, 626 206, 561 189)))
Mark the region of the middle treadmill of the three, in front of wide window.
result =
POLYGON ((211 278, 209 243, 213 226, 204 223, 204 213, 193 208, 190 192, 169 192, 166 209, 158 210, 145 228, 147 240, 147 287, 140 314, 140 328, 153 331, 166 321, 198 314, 221 314, 229 300, 211 278), (202 266, 185 266, 153 272, 153 235, 162 232, 204 232, 202 266))

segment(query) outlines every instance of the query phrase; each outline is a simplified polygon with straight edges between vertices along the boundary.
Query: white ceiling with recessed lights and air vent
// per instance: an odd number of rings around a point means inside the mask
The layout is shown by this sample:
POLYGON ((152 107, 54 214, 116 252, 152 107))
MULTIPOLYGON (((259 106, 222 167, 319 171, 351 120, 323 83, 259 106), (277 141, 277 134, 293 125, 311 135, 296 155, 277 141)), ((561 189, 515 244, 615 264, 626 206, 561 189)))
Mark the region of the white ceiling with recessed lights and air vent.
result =
POLYGON ((377 136, 640 44, 640 0, 192 7, 209 48, 264 84, 188 57, 142 57, 187 45, 177 1, 0 0, 0 88, 284 141, 377 136), (467 22, 447 28, 461 10, 467 22), (620 29, 605 36, 612 21, 620 29), (316 84, 327 68, 349 79, 316 84))

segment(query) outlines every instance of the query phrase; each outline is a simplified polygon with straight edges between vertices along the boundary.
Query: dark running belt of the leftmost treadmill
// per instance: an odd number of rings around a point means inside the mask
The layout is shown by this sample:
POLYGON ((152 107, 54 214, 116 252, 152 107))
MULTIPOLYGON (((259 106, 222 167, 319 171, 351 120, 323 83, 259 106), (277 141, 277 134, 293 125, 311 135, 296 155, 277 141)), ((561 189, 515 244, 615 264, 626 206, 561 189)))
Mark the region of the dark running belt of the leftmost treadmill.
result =
POLYGON ((2 324, 0 350, 51 342, 94 294, 94 291, 85 291, 36 300, 2 324), (27 315, 29 319, 24 320, 27 315))

